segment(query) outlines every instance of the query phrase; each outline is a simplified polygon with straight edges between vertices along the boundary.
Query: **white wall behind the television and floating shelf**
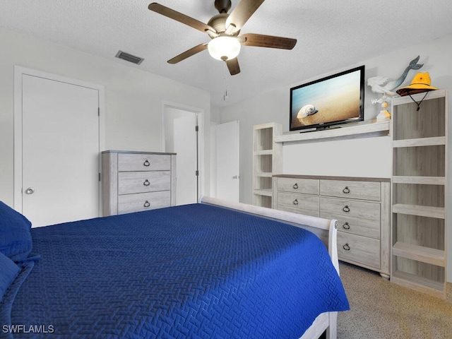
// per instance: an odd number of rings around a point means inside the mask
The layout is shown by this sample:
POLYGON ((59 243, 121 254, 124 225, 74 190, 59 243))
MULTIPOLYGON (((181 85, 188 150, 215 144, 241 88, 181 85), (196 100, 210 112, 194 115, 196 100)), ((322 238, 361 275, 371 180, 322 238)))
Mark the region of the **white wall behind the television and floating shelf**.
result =
MULTIPOLYGON (((419 63, 424 64, 419 71, 428 71, 432 85, 449 88, 448 109, 452 111, 452 35, 406 47, 396 52, 384 53, 357 64, 345 65, 329 74, 319 74, 316 78, 299 79, 270 93, 220 109, 220 122, 240 121, 240 201, 251 203, 252 189, 252 131, 253 125, 267 122, 283 124, 283 131, 289 128, 290 88, 295 85, 328 76, 333 73, 366 66, 366 79, 372 76, 387 76, 396 79, 408 63, 420 55, 419 63)), ((408 85, 417 71, 410 71, 403 85, 408 85)), ((372 105, 371 99, 379 96, 366 86, 364 119, 374 119, 381 107, 372 105)), ((448 130, 452 131, 452 119, 448 119, 448 130)), ((315 133, 315 132, 312 132, 315 133)), ((450 133, 449 133, 450 135, 450 133)), ((452 137, 448 139, 448 158, 452 160, 452 137)), ((319 143, 299 143, 283 146, 283 172, 286 174, 329 174, 358 177, 391 177, 390 137, 352 139, 347 141, 324 141, 319 143), (310 161, 306 161, 306 160, 310 161), (327 160, 331 160, 328 164, 327 160)), ((448 167, 448 203, 452 210, 452 166, 448 167)), ((449 213, 450 214, 450 213, 449 213)), ((452 216, 451 216, 452 217, 452 216)), ((452 218, 448 219, 448 281, 452 281, 452 218)))

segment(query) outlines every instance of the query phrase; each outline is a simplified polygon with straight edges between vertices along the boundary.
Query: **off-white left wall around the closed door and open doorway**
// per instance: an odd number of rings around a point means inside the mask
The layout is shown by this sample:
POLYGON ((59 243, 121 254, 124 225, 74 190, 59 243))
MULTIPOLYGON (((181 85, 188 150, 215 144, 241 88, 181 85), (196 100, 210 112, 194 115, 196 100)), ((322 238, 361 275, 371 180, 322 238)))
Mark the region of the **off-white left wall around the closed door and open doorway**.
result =
MULTIPOLYGON (((210 126, 205 90, 141 71, 126 61, 109 61, 59 44, 0 28, 0 200, 13 206, 13 68, 25 66, 105 88, 105 149, 162 151, 162 102, 196 107, 210 126)), ((209 168, 210 129, 204 133, 209 168)), ((208 193, 209 171, 203 187, 208 193)))

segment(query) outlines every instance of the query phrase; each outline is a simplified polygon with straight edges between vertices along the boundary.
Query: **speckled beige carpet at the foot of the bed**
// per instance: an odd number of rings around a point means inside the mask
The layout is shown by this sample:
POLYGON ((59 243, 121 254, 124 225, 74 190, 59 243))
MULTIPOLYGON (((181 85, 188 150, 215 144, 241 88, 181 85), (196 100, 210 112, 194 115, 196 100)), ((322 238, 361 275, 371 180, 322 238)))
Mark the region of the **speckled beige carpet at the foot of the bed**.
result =
POLYGON ((340 263, 350 311, 338 314, 338 339, 452 338, 452 284, 446 300, 340 263))

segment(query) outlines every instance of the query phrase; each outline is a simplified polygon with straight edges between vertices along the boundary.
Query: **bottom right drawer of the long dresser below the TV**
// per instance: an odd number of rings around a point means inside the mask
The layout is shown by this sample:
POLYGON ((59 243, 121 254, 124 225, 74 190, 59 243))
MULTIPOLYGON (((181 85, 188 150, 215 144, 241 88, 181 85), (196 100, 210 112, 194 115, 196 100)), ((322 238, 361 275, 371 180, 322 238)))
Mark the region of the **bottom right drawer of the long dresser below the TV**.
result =
POLYGON ((339 260, 380 268, 380 242, 376 239, 338 232, 339 260))

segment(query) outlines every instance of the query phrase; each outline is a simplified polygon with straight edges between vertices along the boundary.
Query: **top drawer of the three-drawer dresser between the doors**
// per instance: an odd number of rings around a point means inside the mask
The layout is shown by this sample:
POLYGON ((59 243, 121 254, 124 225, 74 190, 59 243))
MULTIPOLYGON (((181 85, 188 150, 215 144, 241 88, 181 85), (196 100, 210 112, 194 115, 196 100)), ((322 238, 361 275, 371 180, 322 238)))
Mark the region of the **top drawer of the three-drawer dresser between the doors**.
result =
POLYGON ((169 169, 171 169, 171 155, 118 154, 118 172, 169 171, 169 169))

